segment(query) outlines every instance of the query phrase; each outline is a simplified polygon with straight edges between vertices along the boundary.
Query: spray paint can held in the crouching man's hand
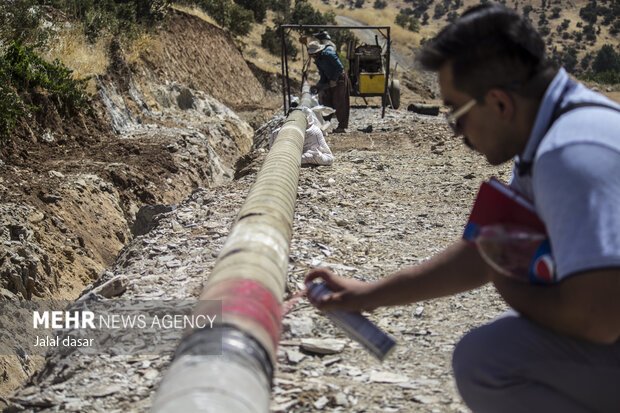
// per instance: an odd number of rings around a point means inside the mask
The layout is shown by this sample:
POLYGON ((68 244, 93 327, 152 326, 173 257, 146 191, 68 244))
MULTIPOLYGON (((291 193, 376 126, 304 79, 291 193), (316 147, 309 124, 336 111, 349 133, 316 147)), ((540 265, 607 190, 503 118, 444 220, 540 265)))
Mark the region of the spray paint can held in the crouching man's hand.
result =
MULTIPOLYGON (((309 282, 306 283, 306 287, 308 294, 317 301, 332 292, 323 282, 309 282)), ((328 310, 325 314, 350 338, 364 346, 379 360, 383 361, 394 350, 396 341, 359 312, 328 310)))

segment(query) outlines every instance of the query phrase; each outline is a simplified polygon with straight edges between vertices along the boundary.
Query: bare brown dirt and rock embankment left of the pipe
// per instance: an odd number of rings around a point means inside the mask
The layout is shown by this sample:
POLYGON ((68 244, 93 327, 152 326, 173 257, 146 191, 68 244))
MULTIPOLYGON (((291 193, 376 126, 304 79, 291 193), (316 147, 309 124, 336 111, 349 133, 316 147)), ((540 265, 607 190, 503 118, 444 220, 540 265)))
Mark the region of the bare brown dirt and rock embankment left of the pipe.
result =
MULTIPOLYGON (((109 55, 90 112, 33 92, 24 99, 42 110, 0 146, 0 299, 78 297, 133 238, 142 206, 231 180, 252 145, 246 120, 279 104, 229 34, 178 11, 137 56, 118 43, 109 55)), ((0 359, 0 395, 33 360, 0 359)))

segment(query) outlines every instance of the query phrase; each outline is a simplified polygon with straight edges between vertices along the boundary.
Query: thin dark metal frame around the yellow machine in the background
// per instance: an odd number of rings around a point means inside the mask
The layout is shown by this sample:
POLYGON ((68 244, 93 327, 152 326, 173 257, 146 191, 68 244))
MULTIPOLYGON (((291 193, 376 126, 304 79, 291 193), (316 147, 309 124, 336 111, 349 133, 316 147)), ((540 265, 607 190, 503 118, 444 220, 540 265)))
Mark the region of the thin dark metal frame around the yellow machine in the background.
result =
POLYGON ((389 78, 390 78, 390 50, 392 47, 392 40, 390 37, 390 26, 338 26, 338 25, 319 25, 319 24, 282 24, 280 25, 282 30, 280 31, 280 38, 282 42, 282 54, 281 54, 281 69, 282 69, 282 100, 284 106, 284 113, 288 113, 291 107, 291 84, 288 74, 288 54, 286 50, 286 35, 292 30, 302 32, 306 29, 312 30, 329 30, 329 29, 347 29, 347 30, 377 30, 385 39, 387 39, 386 50, 386 67, 385 67, 385 87, 383 91, 383 99, 381 99, 381 117, 385 116, 385 106, 389 99, 389 78), (385 30, 385 33, 382 31, 385 30))

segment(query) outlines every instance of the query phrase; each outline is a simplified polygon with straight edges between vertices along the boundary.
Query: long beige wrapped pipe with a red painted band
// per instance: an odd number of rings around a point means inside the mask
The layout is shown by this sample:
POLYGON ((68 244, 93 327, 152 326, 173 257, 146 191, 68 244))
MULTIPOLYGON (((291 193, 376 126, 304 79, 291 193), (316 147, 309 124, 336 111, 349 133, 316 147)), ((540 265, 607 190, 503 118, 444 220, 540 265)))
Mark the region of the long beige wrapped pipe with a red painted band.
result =
POLYGON ((181 341, 153 412, 269 411, 306 126, 301 110, 284 121, 200 296, 222 303, 222 320, 181 341))

